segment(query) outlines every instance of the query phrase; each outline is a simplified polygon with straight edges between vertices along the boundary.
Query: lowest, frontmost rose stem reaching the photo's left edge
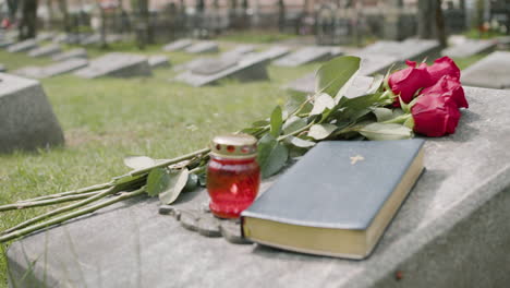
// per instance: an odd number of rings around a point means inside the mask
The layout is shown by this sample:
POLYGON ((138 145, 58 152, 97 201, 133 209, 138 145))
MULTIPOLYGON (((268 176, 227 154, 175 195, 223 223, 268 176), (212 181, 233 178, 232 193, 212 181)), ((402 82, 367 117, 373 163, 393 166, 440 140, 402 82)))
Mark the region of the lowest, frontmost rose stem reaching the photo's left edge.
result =
POLYGON ((61 224, 63 221, 80 217, 82 215, 86 215, 88 213, 95 212, 97 209, 109 206, 109 205, 114 204, 117 202, 141 195, 143 193, 145 193, 145 187, 143 187, 143 188, 138 189, 138 190, 135 190, 133 192, 121 193, 119 196, 114 196, 114 197, 112 197, 110 200, 98 203, 96 205, 87 206, 87 207, 84 207, 82 209, 77 209, 77 211, 74 211, 72 213, 62 215, 60 217, 56 217, 56 218, 49 219, 47 221, 36 224, 34 226, 29 226, 29 227, 26 227, 24 229, 20 229, 20 230, 16 230, 16 231, 0 236, 0 243, 3 243, 3 242, 7 242, 7 241, 10 241, 10 240, 23 237, 25 235, 28 235, 28 233, 32 233, 34 231, 44 229, 44 228, 46 228, 48 226, 51 226, 51 225, 61 224))

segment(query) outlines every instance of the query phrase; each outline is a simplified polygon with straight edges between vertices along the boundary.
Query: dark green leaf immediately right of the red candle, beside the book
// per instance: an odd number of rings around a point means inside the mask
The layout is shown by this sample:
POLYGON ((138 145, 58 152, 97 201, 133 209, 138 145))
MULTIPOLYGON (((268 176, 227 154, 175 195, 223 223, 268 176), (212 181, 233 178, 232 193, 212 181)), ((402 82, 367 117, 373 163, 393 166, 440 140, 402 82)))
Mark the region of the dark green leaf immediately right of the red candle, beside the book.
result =
POLYGON ((263 178, 279 172, 286 166, 288 158, 289 149, 271 134, 266 134, 258 141, 257 160, 263 178))

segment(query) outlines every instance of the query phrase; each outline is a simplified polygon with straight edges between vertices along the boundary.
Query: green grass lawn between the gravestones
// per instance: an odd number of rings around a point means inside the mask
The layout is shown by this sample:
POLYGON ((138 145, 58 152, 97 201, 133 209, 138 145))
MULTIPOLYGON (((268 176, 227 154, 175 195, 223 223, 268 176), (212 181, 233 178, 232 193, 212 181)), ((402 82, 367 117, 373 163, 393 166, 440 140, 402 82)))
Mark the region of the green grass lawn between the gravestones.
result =
MULTIPOLYGON (((222 43, 221 48, 230 46, 222 43)), ((162 53, 159 46, 138 51, 132 45, 114 45, 110 50, 162 53)), ((107 51, 89 49, 93 56, 107 51)), ((178 52, 167 55, 173 64, 193 58, 178 52)), ((461 59, 459 63, 463 68, 475 60, 461 59)), ((0 51, 0 63, 9 70, 47 62, 0 51)), ((129 170, 122 164, 125 156, 171 158, 203 148, 218 133, 267 118, 276 105, 286 101, 281 86, 316 67, 269 67, 270 81, 228 81, 201 88, 170 82, 174 73, 169 69, 130 80, 83 80, 72 75, 42 80, 66 144, 37 153, 0 155, 0 204, 106 182, 129 170)), ((0 230, 47 209, 2 213, 0 230)), ((5 283, 7 264, 0 251, 0 287, 5 283)))

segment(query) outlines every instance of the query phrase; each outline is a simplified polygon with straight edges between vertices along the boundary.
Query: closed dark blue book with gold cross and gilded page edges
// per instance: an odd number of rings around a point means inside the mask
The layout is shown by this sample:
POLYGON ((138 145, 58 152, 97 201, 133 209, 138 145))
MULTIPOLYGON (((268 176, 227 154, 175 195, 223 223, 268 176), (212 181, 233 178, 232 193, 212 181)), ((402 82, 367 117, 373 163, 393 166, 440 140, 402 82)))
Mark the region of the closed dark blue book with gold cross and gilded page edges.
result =
POLYGON ((423 171, 423 144, 320 142, 241 214, 243 236, 304 253, 368 256, 423 171))

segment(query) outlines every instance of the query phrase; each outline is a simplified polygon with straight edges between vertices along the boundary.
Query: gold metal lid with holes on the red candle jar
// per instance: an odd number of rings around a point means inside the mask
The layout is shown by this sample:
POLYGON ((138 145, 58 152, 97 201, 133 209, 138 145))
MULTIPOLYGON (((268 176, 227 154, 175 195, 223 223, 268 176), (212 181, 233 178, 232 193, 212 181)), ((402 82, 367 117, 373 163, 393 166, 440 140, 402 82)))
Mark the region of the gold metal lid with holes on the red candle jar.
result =
POLYGON ((257 139, 248 134, 223 134, 212 139, 211 154, 224 158, 252 158, 257 155, 257 139))

